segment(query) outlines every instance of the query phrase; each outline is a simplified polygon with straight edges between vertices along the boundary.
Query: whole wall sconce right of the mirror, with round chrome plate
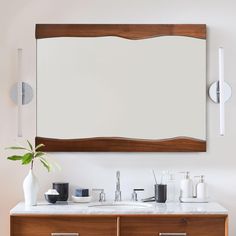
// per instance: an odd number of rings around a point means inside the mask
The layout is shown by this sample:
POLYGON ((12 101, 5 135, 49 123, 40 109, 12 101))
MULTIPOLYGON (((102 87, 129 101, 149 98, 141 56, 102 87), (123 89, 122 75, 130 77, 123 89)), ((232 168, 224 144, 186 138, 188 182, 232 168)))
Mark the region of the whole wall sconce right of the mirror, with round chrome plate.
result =
POLYGON ((225 102, 231 97, 229 84, 224 81, 224 48, 219 48, 219 80, 211 84, 209 96, 215 103, 220 104, 220 135, 225 135, 225 102))

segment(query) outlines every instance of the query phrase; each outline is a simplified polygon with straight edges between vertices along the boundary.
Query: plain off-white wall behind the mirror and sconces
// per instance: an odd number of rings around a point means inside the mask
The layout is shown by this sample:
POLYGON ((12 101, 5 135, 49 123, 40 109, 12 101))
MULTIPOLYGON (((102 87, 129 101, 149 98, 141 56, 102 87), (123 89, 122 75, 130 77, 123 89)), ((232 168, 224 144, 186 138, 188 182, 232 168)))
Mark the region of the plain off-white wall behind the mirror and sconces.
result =
MULTIPOLYGON (((233 0, 0 0, 0 234, 9 235, 9 209, 23 199, 22 180, 28 167, 5 159, 4 147, 14 144, 16 106, 9 98, 16 81, 16 49, 24 48, 24 75, 35 87, 35 23, 206 23, 208 25, 208 84, 217 78, 217 48, 225 47, 226 79, 234 88, 236 56, 236 3, 233 0)), ((53 92, 53 90, 52 90, 53 92)), ((230 235, 236 232, 236 105, 226 106, 226 136, 219 137, 218 106, 208 101, 208 152, 203 154, 52 154, 63 167, 46 173, 37 166, 41 193, 53 181, 104 187, 113 197, 115 171, 122 177, 123 196, 133 187, 152 193, 150 169, 190 170, 205 174, 210 195, 229 209, 230 235)), ((46 114, 45 114, 46 115, 46 114)), ((24 108, 25 137, 35 136, 35 100, 24 108)))

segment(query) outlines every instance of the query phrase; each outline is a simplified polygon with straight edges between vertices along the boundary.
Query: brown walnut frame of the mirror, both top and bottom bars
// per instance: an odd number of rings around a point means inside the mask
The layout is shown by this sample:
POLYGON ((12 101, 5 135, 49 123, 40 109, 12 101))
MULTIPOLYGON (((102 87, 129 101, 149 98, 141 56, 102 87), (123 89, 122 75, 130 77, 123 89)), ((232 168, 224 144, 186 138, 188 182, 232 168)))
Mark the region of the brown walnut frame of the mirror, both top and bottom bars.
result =
MULTIPOLYGON (((187 36, 206 39, 204 24, 37 24, 36 39, 53 37, 118 36, 147 39, 158 36, 187 36)), ((48 152, 205 152, 206 141, 189 137, 133 139, 95 137, 53 139, 36 137, 35 145, 45 144, 48 152)))

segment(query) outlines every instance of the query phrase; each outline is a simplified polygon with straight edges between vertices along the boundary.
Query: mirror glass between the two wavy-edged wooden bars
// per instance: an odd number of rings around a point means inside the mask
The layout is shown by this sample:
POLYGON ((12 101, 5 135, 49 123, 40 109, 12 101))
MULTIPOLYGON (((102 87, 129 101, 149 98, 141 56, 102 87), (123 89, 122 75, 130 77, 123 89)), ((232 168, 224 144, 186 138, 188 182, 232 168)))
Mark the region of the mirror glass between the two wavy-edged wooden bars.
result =
POLYGON ((206 140, 206 40, 37 40, 37 136, 206 140))

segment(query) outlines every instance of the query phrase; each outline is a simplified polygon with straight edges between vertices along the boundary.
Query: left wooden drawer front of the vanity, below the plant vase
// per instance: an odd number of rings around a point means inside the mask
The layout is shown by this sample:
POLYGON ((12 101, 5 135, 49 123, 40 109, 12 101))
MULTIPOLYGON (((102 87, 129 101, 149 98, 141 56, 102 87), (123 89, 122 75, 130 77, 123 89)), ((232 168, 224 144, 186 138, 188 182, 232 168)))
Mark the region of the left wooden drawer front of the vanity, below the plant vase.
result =
POLYGON ((116 217, 22 217, 11 219, 11 236, 116 236, 116 217))

